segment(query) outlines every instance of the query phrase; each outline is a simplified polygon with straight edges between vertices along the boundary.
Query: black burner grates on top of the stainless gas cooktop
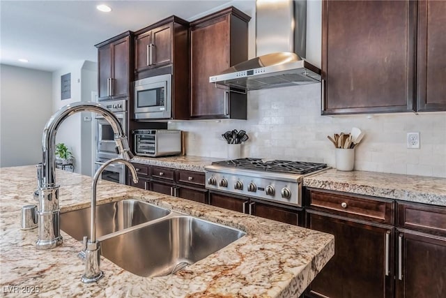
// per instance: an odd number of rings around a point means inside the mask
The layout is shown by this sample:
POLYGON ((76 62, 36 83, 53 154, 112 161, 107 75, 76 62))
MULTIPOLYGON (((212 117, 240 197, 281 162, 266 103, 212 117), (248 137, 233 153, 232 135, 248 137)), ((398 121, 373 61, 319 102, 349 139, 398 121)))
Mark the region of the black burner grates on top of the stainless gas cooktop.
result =
POLYGON ((283 172, 290 174, 308 174, 327 167, 325 163, 307 163, 305 161, 279 161, 261 158, 238 158, 229 161, 215 161, 213 165, 238 167, 245 170, 264 172, 283 172))

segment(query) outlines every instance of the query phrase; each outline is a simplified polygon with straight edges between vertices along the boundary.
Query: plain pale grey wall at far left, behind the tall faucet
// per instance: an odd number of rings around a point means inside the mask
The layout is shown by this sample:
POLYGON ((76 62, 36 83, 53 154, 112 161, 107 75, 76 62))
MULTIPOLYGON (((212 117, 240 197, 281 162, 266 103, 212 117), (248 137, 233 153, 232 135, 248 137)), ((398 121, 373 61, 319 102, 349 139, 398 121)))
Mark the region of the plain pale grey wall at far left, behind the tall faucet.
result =
POLYGON ((0 167, 42 161, 42 133, 52 115, 52 74, 0 65, 0 167))

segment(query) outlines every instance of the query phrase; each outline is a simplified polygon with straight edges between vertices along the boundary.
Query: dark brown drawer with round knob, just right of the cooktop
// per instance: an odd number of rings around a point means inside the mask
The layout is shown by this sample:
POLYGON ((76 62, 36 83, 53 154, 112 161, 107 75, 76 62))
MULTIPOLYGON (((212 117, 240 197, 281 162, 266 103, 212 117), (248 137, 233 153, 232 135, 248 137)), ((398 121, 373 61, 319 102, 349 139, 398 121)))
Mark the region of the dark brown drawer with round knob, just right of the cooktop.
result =
POLYGON ((331 191, 309 191, 312 209, 351 218, 393 224, 393 201, 331 191))

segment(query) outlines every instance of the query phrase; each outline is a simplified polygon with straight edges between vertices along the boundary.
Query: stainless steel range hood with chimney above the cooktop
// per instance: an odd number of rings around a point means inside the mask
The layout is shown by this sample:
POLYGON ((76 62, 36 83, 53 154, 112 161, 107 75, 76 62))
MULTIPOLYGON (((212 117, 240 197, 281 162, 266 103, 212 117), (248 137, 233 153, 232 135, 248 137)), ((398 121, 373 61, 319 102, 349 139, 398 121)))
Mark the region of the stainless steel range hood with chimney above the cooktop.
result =
POLYGON ((256 55, 209 82, 257 90, 321 82, 321 70, 306 55, 307 1, 256 0, 256 55))

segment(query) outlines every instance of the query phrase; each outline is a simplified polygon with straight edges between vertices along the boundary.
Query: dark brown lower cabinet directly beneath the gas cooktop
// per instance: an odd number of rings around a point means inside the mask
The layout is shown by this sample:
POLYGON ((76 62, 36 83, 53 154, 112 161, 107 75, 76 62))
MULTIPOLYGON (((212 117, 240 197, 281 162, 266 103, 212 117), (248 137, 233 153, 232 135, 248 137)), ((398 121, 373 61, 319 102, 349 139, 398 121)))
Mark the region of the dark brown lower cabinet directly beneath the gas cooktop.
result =
POLYGON ((209 204, 290 225, 303 225, 303 211, 298 207, 213 191, 209 193, 209 204))

